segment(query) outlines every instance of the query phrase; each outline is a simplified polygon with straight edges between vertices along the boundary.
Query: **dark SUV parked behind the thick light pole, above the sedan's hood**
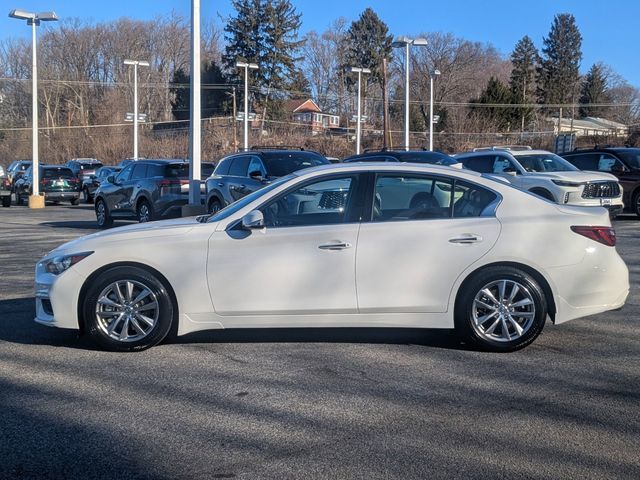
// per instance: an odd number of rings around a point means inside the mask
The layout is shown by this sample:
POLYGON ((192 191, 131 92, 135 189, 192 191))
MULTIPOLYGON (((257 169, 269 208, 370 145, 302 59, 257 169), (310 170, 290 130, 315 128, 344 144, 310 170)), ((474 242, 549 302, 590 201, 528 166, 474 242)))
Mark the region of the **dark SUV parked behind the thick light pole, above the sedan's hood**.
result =
MULTIPOLYGON (((202 163, 201 168, 205 177, 214 165, 202 163)), ((95 193, 96 220, 99 228, 107 228, 117 218, 148 222, 178 216, 188 201, 188 162, 137 160, 100 184, 95 193)))

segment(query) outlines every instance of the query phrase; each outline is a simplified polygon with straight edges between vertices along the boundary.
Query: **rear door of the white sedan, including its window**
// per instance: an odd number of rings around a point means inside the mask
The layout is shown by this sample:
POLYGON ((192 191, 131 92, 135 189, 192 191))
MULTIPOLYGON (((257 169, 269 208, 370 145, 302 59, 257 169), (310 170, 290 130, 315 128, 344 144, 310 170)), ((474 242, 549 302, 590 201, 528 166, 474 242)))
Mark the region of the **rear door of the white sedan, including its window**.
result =
POLYGON ((458 276, 498 238, 497 195, 400 172, 379 174, 374 192, 372 220, 362 223, 358 237, 359 311, 446 311, 458 276))

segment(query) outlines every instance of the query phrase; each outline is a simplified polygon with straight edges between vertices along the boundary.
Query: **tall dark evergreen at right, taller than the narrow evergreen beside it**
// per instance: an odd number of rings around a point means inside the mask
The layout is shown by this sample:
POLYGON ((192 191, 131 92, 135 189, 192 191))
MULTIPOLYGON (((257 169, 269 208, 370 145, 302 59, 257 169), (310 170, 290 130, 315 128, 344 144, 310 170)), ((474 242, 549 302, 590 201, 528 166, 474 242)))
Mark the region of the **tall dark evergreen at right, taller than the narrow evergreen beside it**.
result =
POLYGON ((541 103, 571 103, 580 79, 582 35, 573 15, 556 15, 549 36, 543 40, 538 69, 538 100, 541 103))

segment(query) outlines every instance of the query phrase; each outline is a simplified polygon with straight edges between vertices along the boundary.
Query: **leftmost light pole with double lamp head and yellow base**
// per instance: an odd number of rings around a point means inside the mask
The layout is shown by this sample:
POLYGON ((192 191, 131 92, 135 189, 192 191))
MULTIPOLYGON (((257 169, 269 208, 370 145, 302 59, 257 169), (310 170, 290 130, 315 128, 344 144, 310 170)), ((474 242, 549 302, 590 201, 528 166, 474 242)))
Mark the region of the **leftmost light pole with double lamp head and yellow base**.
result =
POLYGON ((29 196, 29 208, 44 208, 44 198, 40 196, 40 163, 38 158, 38 55, 36 27, 40 22, 58 20, 55 12, 33 13, 14 9, 9 17, 26 20, 31 26, 31 171, 33 176, 32 191, 29 196))

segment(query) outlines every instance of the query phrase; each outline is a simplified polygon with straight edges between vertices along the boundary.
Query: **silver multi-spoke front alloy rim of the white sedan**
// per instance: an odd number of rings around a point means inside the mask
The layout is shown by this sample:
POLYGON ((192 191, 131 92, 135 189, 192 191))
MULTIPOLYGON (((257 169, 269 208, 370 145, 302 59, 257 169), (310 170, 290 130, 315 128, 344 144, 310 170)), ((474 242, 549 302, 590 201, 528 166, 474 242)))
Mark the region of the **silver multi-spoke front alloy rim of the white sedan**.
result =
POLYGON ((151 333, 160 307, 150 287, 136 280, 118 280, 102 290, 95 314, 98 328, 107 336, 135 342, 151 333))

